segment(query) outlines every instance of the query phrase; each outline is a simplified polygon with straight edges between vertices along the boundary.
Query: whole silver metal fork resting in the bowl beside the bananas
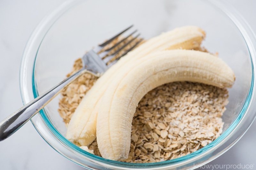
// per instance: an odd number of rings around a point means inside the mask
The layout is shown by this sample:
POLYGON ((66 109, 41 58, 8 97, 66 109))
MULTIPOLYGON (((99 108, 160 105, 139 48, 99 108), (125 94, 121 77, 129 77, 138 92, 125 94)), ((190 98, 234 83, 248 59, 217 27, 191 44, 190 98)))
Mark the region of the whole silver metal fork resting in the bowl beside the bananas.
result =
POLYGON ((124 31, 108 39, 106 42, 96 46, 93 50, 85 53, 85 55, 82 57, 83 68, 81 70, 75 74, 72 74, 67 79, 60 82, 58 85, 48 90, 44 94, 36 97, 34 100, 24 105, 22 108, 15 111, 9 117, 0 122, 0 141, 8 138, 15 131, 20 129, 22 125, 28 122, 31 117, 33 117, 45 105, 47 105, 72 81, 76 80, 84 73, 90 73, 99 77, 109 67, 111 67, 111 65, 113 65, 116 60, 119 60, 122 56, 137 46, 142 41, 142 39, 138 40, 138 36, 140 34, 136 35, 134 38, 132 37, 132 35, 137 31, 136 30, 119 40, 117 43, 115 43, 114 46, 106 49, 106 47, 113 43, 113 41, 120 39, 121 34, 129 30, 132 26, 133 25, 129 26, 124 31), (120 55, 120 52, 123 53, 120 55))

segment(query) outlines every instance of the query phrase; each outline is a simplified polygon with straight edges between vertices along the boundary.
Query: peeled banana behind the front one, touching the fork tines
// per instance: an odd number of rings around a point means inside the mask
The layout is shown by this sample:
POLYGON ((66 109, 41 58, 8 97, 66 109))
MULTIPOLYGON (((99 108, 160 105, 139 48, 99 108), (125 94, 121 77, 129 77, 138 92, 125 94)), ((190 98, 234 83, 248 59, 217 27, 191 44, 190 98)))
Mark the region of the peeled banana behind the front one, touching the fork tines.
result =
POLYGON ((78 146, 87 146, 96 138, 96 121, 102 96, 124 65, 147 54, 168 49, 193 49, 200 46, 205 33, 196 26, 184 26, 149 39, 110 67, 87 92, 71 118, 66 138, 78 146))

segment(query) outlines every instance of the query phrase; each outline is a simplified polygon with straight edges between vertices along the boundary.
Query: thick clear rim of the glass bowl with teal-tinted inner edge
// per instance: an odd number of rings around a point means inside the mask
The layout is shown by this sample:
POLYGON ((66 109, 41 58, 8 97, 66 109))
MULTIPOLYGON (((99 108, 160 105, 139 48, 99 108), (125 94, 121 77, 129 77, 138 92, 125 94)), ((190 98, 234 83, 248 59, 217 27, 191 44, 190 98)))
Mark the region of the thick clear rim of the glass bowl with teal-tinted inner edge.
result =
MULTIPOLYGON (((51 28, 58 18, 60 18, 66 11, 70 8, 80 4, 84 1, 82 0, 69 0, 55 11, 53 11, 50 15, 46 16, 40 24, 36 27, 32 35, 30 36, 28 43, 23 52, 22 61, 20 65, 20 93, 22 97, 23 104, 28 103, 32 99, 38 96, 36 90, 36 80, 34 79, 34 72, 35 72, 35 62, 36 62, 36 55, 37 51, 41 45, 41 42, 44 39, 44 36, 51 28)), ((252 32, 252 29, 244 20, 244 18, 239 14, 236 9, 227 2, 222 2, 220 0, 208 0, 209 3, 215 5, 220 11, 224 12, 231 21, 236 25, 242 36, 244 37, 245 43, 247 44, 248 51, 251 56, 252 62, 252 83, 249 91, 249 95, 246 98, 246 101, 243 105, 242 110, 240 111, 239 115, 236 117, 236 120, 228 127, 228 129, 223 132, 219 138, 214 140, 209 145, 203 147, 202 149, 188 154, 186 156, 172 159, 164 162, 156 162, 156 163, 143 163, 143 164, 136 164, 136 163, 126 163, 126 162, 118 162, 112 161, 108 159, 104 159, 98 156, 94 156, 84 150, 80 149, 76 145, 69 142, 66 138, 64 138, 51 124, 48 120, 47 115, 45 114, 45 110, 40 110, 40 114, 36 114, 32 119, 31 122, 38 131, 38 133, 44 138, 44 140, 52 146, 57 152, 59 152, 64 157, 68 158, 69 160, 79 164, 81 166, 87 168, 95 168, 95 167, 108 167, 110 169, 118 169, 118 168, 125 168, 125 169, 137 169, 137 168, 158 168, 158 169, 170 169, 175 167, 184 167, 184 168, 193 168, 192 163, 197 162, 196 165, 204 165, 213 159, 219 157, 221 154, 226 152, 229 148, 231 148, 248 130, 250 125, 252 124, 255 116, 256 116, 256 107, 253 107, 255 102, 255 58, 256 58, 256 39, 255 35, 252 32), (234 137, 236 134, 236 137, 234 137), (57 136, 57 138, 55 138, 57 136), (50 142, 51 141, 51 142, 50 142), (52 141, 54 141, 52 143, 52 141), (220 146, 225 146, 224 149, 218 149, 220 146), (65 151, 63 151, 64 149, 65 151), (68 151, 76 151, 78 160, 73 159, 70 157, 71 152, 68 151), (221 151, 219 151, 221 150, 221 151), (211 158, 206 158, 207 155, 212 154, 211 158), (196 156, 198 156, 196 158, 196 156), (198 160, 198 158, 200 158, 198 160), (185 160, 186 159, 186 160, 185 160), (197 160, 196 160, 197 159, 197 160), (84 161, 83 161, 84 160, 84 161), (188 161, 189 160, 189 161, 188 161), (81 162, 82 161, 82 162, 81 162), (186 161, 186 166, 184 165, 184 161, 186 161)))

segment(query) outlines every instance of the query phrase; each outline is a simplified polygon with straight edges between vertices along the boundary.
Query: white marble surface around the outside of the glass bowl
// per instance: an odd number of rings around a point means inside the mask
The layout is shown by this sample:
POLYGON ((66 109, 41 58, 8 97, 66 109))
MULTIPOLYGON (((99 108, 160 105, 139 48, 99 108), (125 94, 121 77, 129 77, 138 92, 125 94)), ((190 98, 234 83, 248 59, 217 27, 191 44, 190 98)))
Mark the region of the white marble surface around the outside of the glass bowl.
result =
MULTIPOLYGON (((228 0, 256 32, 256 1, 228 0)), ((22 106, 19 69, 23 49, 39 21, 64 0, 0 1, 0 120, 22 106)), ((228 152, 208 165, 248 164, 256 169, 256 122, 228 152)), ((53 150, 31 122, 0 142, 1 170, 84 169, 53 150)), ((200 168, 199 168, 200 169, 200 168)), ((204 168, 207 169, 207 168, 204 168)), ((212 169, 212 168, 210 168, 212 169)), ((218 168, 214 168, 218 169, 218 168)))

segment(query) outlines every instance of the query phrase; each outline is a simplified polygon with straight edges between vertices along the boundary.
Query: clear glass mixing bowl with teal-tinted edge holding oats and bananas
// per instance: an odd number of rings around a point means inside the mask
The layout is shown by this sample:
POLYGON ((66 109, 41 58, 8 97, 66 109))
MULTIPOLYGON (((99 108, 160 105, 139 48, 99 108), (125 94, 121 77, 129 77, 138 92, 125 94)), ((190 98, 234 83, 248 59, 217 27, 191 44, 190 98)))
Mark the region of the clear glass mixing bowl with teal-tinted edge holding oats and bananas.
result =
POLYGON ((52 88, 71 71, 86 50, 129 25, 149 39, 184 25, 206 31, 203 42, 218 52, 235 72, 219 138, 181 158, 158 163, 125 163, 92 155, 64 138, 66 128, 57 111, 60 96, 32 119, 39 134, 57 152, 89 169, 193 169, 217 158, 233 146, 252 124, 255 103, 255 36, 238 12, 220 0, 71 0, 44 18, 32 33, 20 67, 24 103, 52 88))

